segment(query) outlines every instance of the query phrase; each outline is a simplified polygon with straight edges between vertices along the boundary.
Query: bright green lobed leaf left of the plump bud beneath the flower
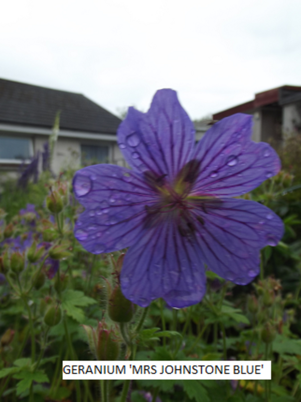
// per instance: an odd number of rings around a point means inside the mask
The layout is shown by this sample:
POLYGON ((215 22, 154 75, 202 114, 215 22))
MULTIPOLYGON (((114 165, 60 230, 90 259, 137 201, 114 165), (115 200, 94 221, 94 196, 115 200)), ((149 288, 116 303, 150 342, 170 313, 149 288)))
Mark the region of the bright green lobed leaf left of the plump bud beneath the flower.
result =
POLYGON ((85 296, 80 290, 68 289, 63 293, 63 310, 66 310, 67 315, 74 318, 80 324, 84 322, 85 314, 82 308, 79 307, 86 307, 95 303, 96 300, 85 296))

